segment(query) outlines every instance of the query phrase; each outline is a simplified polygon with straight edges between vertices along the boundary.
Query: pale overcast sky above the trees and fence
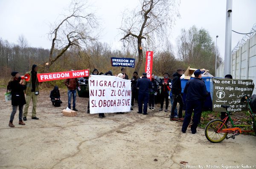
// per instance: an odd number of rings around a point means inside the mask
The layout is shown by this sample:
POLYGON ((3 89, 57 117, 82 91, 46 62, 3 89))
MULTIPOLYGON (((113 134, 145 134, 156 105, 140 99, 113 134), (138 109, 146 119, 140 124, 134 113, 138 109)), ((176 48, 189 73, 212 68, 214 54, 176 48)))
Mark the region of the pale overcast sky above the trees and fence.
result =
MULTIPOLYGON (((103 29, 100 41, 110 43, 113 48, 122 44, 118 28, 122 12, 139 5, 138 0, 88 0, 100 18, 103 29)), ((0 0, 0 37, 10 43, 17 43, 23 34, 29 46, 49 49, 47 38, 49 25, 64 14, 70 0, 0 0)), ((256 0, 233 0, 232 29, 237 32, 250 32, 256 23, 256 0)), ((221 57, 224 57, 226 0, 180 0, 180 18, 173 26, 169 40, 176 47, 176 38, 182 28, 195 25, 204 28, 216 40, 221 57)), ((243 35, 232 33, 232 49, 243 35)), ((118 56, 116 56, 118 57, 118 56)))

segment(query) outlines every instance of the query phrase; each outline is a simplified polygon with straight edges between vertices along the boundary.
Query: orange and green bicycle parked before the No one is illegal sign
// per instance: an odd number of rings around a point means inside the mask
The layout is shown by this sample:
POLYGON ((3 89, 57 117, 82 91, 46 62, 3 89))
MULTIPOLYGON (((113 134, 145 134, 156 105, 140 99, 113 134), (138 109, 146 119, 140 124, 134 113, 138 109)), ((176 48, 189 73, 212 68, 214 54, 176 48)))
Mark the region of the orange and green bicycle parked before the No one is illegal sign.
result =
POLYGON ((256 114, 253 113, 251 107, 250 107, 250 97, 247 95, 244 95, 241 98, 241 103, 245 102, 247 104, 247 112, 249 112, 250 114, 250 122, 249 125, 234 125, 233 120, 231 119, 230 116, 230 112, 228 111, 228 108, 230 106, 226 106, 226 105, 221 105, 221 107, 226 109, 226 117, 223 120, 220 119, 214 119, 209 121, 209 123, 207 123, 206 127, 205 127, 205 137, 207 138, 207 140, 209 140, 212 143, 220 143, 221 141, 223 141, 225 138, 229 139, 229 138, 233 138, 235 139, 236 135, 241 134, 241 132, 254 132, 254 134, 256 135, 256 119, 255 116, 256 114), (228 128, 227 127, 227 120, 230 120, 232 128, 228 128), (242 127, 251 127, 253 128, 253 130, 241 130, 242 127), (228 137, 228 134, 232 134, 230 137, 228 137))

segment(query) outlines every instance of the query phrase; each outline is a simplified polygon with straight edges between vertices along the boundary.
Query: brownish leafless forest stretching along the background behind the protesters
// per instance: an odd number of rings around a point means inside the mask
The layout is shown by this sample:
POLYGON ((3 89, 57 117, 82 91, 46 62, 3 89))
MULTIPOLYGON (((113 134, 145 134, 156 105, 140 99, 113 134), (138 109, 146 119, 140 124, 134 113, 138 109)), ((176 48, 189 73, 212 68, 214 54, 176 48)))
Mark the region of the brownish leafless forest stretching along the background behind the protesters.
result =
MULTIPOLYGON (((153 73, 161 76, 168 72, 172 74, 178 68, 187 69, 188 66, 198 69, 209 69, 211 74, 215 74, 215 44, 205 29, 198 29, 192 26, 189 30, 182 29, 177 38, 177 54, 173 46, 167 40, 163 42, 164 49, 150 49, 154 51, 153 73)), ((44 72, 44 63, 49 60, 49 49, 35 48, 28 46, 24 36, 18 37, 17 43, 9 43, 0 38, 0 71, 2 72, 0 85, 6 86, 11 78, 11 72, 17 71, 21 74, 31 70, 33 64, 40 66, 39 72, 44 72)), ((145 55, 145 50, 143 50, 145 55)), ((64 72, 70 69, 99 69, 99 72, 106 73, 108 70, 113 74, 121 72, 121 67, 111 66, 111 57, 135 58, 138 62, 137 53, 134 50, 113 50, 108 43, 93 41, 90 46, 82 51, 67 50, 52 64, 49 72, 64 72)), ((217 67, 221 63, 221 58, 217 50, 217 67)), ((145 60, 142 61, 139 74, 145 69, 145 60)), ((134 68, 127 68, 129 78, 132 77, 134 68)), ((48 82, 49 85, 58 84, 59 80, 48 82)))

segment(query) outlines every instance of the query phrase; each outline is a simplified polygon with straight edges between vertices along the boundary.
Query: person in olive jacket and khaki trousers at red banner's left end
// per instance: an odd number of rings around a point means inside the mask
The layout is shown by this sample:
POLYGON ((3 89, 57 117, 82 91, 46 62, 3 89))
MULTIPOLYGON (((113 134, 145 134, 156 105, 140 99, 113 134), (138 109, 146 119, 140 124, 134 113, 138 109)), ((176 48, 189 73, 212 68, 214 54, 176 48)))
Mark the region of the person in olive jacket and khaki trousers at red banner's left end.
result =
POLYGON ((24 81, 24 85, 26 86, 26 105, 24 106, 23 110, 23 120, 26 121, 26 116, 28 115, 29 103, 32 99, 33 102, 33 109, 32 109, 32 119, 38 120, 39 118, 36 117, 36 107, 38 102, 38 95, 39 95, 39 82, 37 78, 38 66, 33 65, 32 70, 26 72, 29 74, 30 79, 28 81, 24 81))

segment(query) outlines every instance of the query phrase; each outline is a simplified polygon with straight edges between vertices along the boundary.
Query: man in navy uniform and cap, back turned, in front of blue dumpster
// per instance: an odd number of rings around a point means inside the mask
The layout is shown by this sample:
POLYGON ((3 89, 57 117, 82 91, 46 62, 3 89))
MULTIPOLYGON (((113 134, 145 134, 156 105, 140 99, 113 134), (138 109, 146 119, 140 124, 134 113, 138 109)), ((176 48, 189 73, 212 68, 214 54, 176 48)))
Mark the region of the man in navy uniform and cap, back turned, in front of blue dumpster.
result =
POLYGON ((193 115, 193 124, 191 126, 192 134, 196 133, 196 128, 199 123, 199 117, 202 113, 202 103, 208 95, 206 90, 205 83, 201 81, 202 73, 200 69, 197 69, 194 72, 195 78, 189 80, 186 83, 184 93, 186 93, 186 112, 185 118, 183 121, 181 131, 183 133, 186 132, 187 127, 191 121, 192 112, 194 110, 193 115))

